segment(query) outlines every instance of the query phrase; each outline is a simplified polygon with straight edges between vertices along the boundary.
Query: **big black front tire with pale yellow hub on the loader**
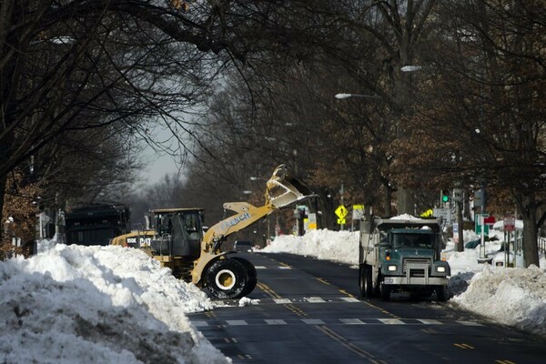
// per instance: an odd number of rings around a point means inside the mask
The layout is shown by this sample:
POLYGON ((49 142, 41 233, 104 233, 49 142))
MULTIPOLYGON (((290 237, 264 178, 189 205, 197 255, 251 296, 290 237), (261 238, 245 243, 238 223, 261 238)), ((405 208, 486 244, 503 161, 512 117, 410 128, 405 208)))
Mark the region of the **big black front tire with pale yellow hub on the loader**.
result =
POLYGON ((241 298, 248 287, 247 268, 236 259, 219 259, 207 269, 205 281, 215 298, 241 298))

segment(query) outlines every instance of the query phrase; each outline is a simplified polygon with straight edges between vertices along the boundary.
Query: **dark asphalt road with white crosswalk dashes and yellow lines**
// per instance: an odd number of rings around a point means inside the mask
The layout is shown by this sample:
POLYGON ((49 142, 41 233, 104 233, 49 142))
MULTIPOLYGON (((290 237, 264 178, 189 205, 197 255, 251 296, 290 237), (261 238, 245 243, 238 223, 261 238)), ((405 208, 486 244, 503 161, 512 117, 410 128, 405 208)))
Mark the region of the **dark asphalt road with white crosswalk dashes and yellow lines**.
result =
POLYGON ((188 315, 234 363, 546 362, 546 340, 449 301, 359 300, 355 268, 288 254, 238 256, 258 270, 248 298, 259 301, 218 301, 222 307, 188 315))

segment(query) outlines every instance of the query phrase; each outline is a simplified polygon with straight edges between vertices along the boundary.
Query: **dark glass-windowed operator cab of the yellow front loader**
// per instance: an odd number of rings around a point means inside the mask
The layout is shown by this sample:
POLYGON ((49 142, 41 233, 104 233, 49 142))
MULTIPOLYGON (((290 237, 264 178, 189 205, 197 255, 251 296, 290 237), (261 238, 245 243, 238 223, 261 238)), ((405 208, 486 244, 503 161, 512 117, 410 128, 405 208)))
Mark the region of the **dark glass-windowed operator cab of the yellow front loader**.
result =
POLYGON ((202 208, 153 210, 156 236, 152 250, 157 255, 198 257, 203 238, 202 208))

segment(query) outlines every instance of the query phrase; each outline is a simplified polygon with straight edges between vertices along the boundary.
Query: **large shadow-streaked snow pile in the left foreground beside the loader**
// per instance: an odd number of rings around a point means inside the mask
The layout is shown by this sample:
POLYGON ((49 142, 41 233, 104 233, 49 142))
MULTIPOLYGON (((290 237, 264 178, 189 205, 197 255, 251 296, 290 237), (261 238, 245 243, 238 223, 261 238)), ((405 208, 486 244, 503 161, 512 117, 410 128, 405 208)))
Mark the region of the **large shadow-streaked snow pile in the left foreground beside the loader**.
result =
POLYGON ((229 362, 187 319, 207 296, 121 247, 0 262, 0 362, 229 362))

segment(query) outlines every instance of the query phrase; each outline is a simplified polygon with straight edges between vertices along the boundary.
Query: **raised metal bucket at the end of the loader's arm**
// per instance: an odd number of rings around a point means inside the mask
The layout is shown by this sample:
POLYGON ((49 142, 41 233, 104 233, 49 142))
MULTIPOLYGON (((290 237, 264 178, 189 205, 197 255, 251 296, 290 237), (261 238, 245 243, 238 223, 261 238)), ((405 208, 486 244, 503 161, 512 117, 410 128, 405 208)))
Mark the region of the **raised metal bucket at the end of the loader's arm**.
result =
POLYGON ((286 207, 314 195, 297 178, 288 176, 285 165, 275 169, 267 186, 266 198, 276 208, 286 207))

